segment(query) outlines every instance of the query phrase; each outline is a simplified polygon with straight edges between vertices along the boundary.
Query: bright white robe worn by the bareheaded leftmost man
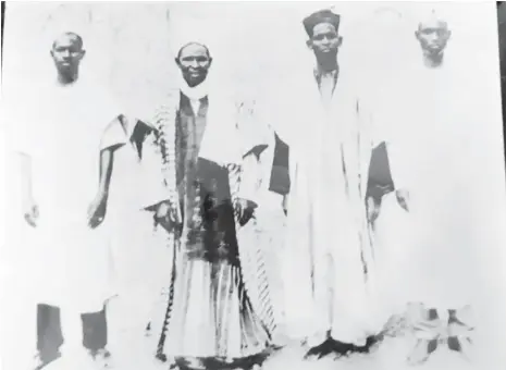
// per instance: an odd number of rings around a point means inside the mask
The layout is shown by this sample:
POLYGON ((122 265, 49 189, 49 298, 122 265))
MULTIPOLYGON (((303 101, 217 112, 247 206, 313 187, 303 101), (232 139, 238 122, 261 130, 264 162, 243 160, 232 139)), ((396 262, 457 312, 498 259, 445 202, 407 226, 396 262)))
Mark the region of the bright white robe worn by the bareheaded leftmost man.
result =
MULTIPOLYGON (((120 109, 104 87, 82 78, 55 82, 12 97, 8 120, 14 149, 32 160, 37 226, 24 223, 34 303, 76 312, 97 312, 112 294, 109 224, 88 226, 87 211, 99 189, 99 152, 107 125, 120 109)), ((125 143, 116 135, 115 145, 125 143)))

